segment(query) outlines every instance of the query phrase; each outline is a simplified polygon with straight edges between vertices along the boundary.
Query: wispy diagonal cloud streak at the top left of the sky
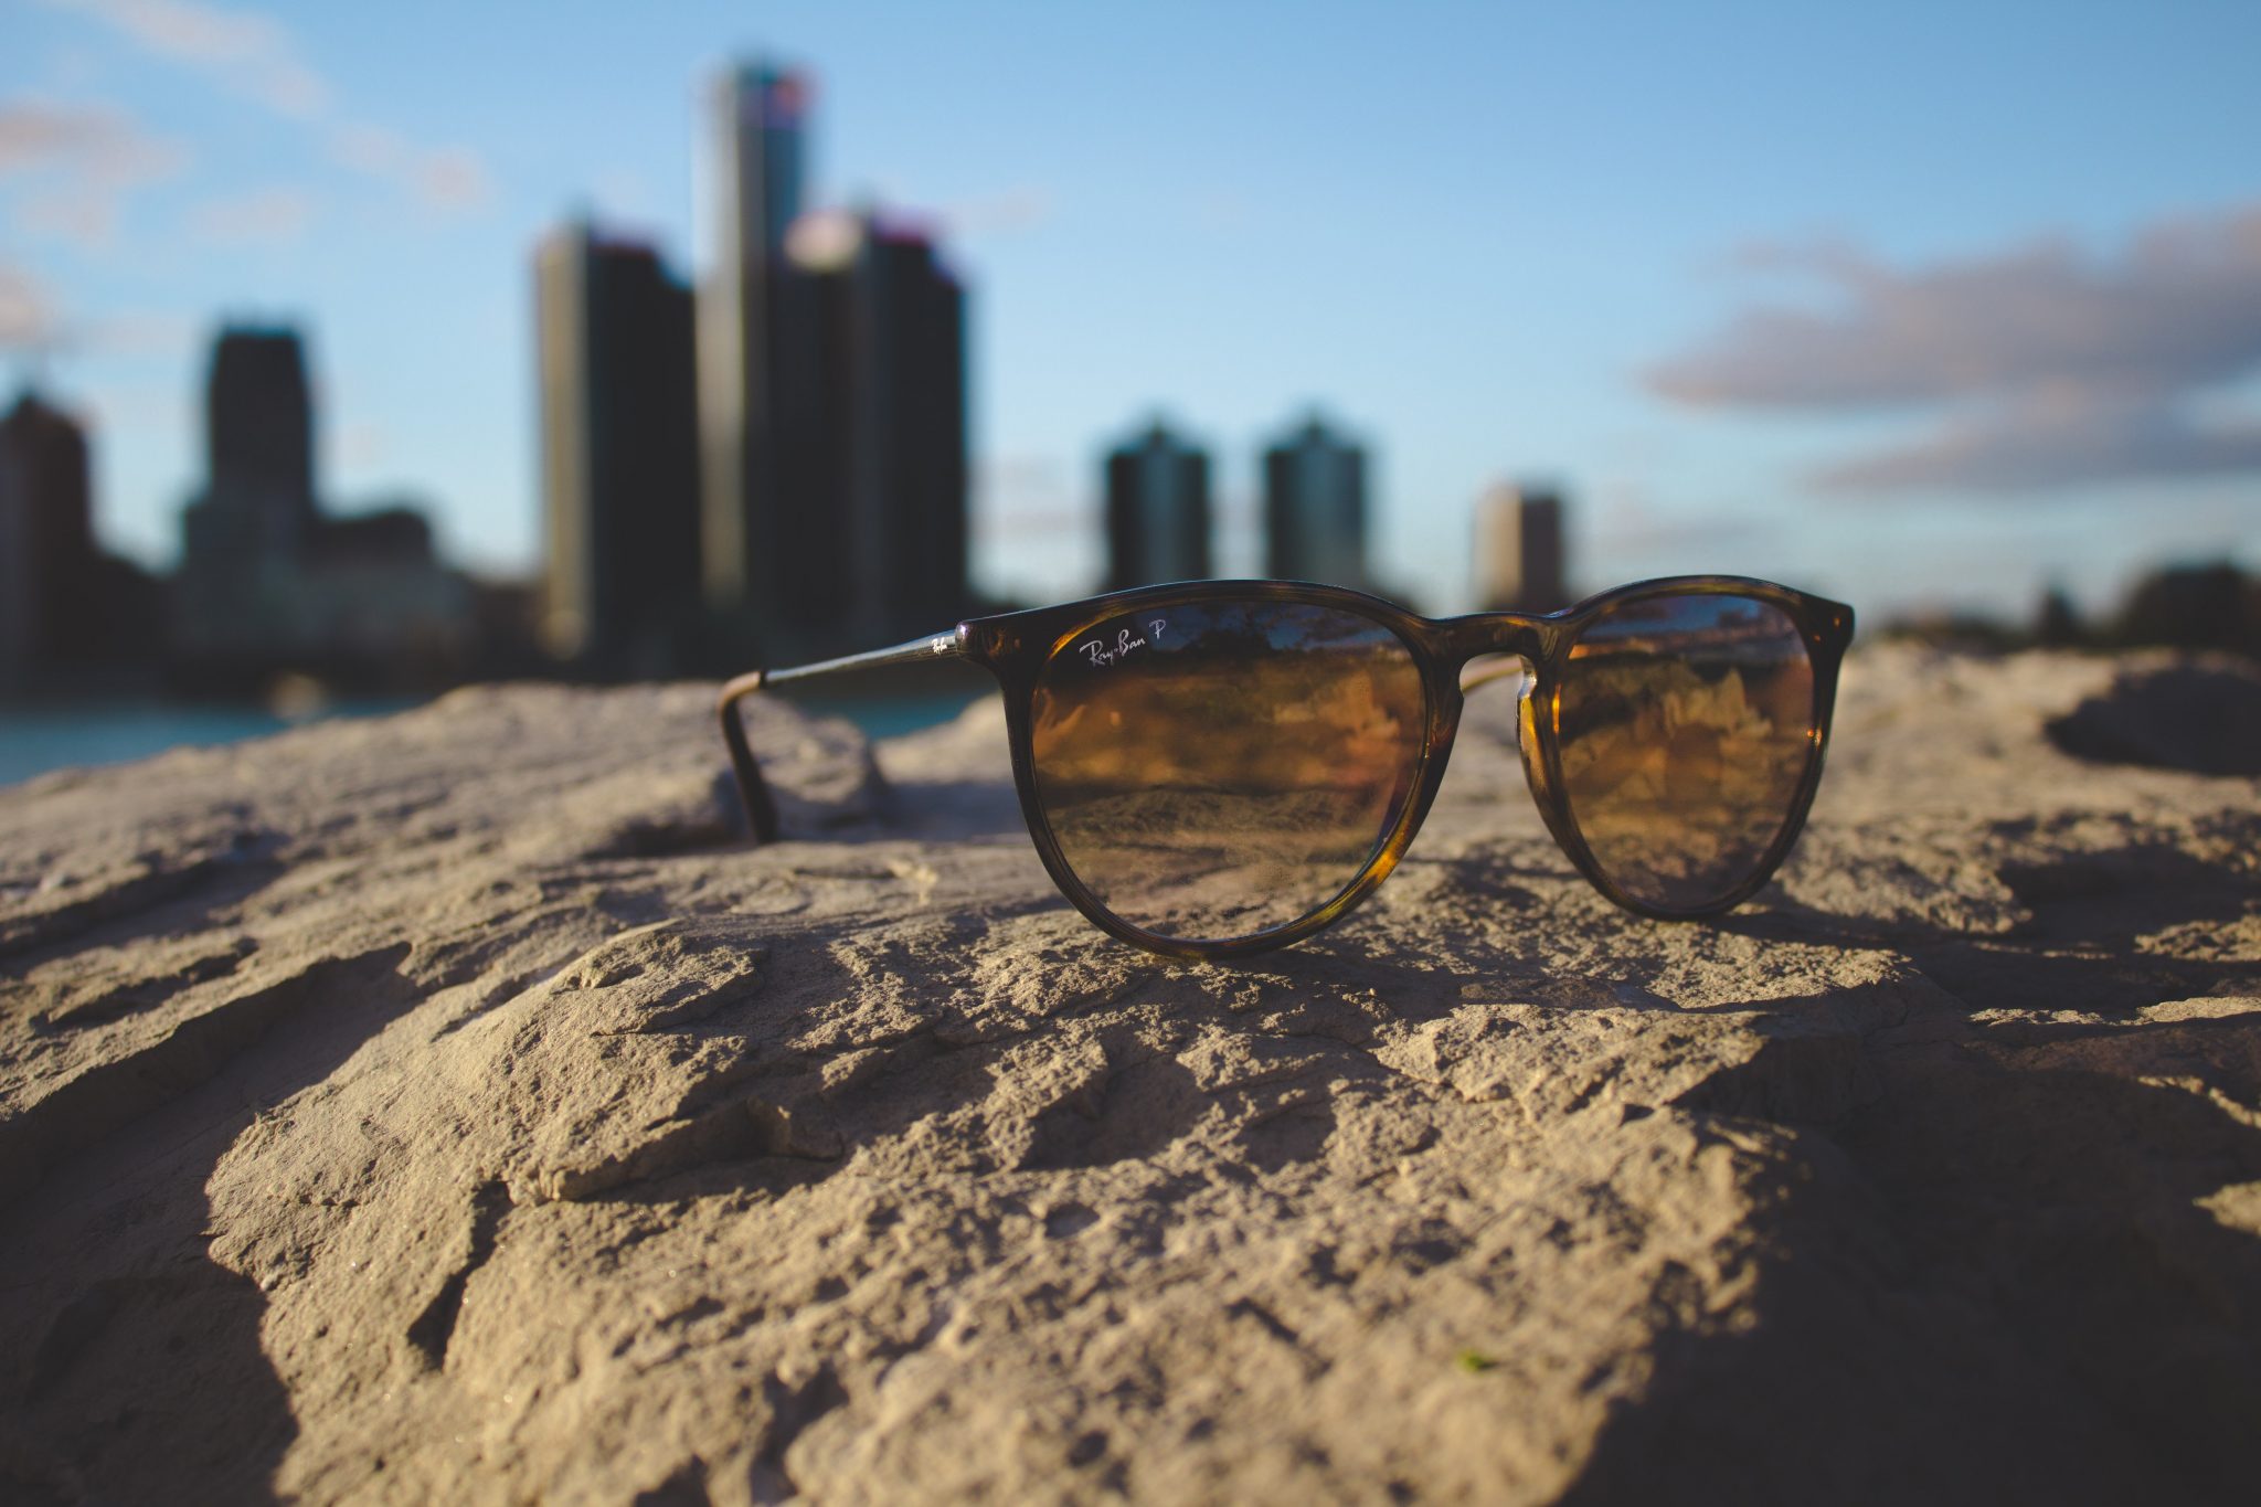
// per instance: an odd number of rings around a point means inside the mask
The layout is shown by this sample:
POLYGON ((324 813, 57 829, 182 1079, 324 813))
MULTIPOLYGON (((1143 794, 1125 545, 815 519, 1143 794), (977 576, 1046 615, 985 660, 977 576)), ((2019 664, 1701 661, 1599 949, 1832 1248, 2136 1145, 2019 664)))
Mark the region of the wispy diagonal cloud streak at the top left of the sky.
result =
POLYGON ((337 90, 298 38, 271 16, 199 0, 41 0, 111 27, 120 38, 190 68, 217 88, 314 133, 332 163, 387 183, 432 210, 477 208, 491 176, 468 147, 425 147, 335 106, 337 90))

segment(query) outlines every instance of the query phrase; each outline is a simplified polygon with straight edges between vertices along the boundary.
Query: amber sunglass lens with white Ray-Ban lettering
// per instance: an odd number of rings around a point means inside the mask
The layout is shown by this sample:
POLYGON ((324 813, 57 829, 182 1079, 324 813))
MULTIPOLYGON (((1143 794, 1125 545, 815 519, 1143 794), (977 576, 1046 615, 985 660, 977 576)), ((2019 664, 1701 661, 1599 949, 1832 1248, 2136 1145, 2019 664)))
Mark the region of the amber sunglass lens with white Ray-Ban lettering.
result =
POLYGON ((1189 601, 1063 644, 1029 743, 1083 886, 1142 931, 1216 942, 1298 922, 1359 877, 1424 728, 1420 669, 1381 624, 1189 601))

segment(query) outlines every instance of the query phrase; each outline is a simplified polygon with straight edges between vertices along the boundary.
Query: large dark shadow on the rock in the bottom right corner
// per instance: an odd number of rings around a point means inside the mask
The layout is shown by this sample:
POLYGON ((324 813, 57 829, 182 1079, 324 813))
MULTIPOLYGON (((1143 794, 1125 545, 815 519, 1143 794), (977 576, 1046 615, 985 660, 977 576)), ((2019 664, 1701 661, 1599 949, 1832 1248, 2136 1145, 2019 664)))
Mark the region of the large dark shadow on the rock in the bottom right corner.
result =
POLYGON ((2261 1231, 2211 1204, 2261 1132, 2207 1089, 2261 1089, 2261 1014, 1868 1055, 1831 1130, 1703 1112, 1779 1157, 1755 1297, 1671 1313, 1565 1500, 2247 1500, 2261 1231))

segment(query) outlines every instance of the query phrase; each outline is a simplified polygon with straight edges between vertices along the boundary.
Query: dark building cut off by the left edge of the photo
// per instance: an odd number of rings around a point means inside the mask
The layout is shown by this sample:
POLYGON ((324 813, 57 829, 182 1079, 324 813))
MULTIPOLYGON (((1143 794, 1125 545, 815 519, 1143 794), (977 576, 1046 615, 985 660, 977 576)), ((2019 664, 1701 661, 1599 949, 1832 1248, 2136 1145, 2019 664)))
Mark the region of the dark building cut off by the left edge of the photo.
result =
POLYGON ((0 685, 93 657, 99 585, 86 434, 27 391, 0 418, 0 685))

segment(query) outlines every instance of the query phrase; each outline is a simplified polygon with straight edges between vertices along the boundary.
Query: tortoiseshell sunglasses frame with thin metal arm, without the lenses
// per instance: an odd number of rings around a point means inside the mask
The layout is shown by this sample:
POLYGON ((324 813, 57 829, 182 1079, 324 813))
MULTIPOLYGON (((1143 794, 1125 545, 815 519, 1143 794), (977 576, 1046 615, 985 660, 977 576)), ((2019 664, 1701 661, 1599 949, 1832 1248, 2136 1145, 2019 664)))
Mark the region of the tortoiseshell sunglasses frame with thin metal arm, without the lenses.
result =
POLYGON ((1013 784, 1020 791, 1022 818, 1029 822, 1029 836, 1036 843, 1038 856, 1045 861, 1045 870, 1051 874, 1054 883, 1060 886, 1060 892, 1069 899, 1069 904, 1074 904, 1076 911, 1081 911, 1101 931, 1135 947, 1144 947, 1169 958, 1216 960, 1241 958, 1300 942, 1343 920, 1343 915, 1348 915, 1361 899, 1372 895, 1384 879, 1388 879, 1391 870, 1397 868, 1397 861, 1404 859, 1406 850, 1413 845, 1415 834, 1420 834, 1422 818, 1429 816, 1429 804, 1436 800, 1438 786, 1445 779, 1445 761, 1452 755, 1452 739, 1461 728, 1461 698, 1465 689, 1461 685, 1461 676, 1472 660, 1488 655, 1517 655, 1531 667, 1531 676, 1524 680, 1519 700, 1517 741, 1522 743, 1524 777, 1531 784, 1533 800, 1537 800, 1540 816, 1547 818, 1547 831, 1553 834, 1569 861, 1578 865, 1578 872, 1585 874, 1585 879, 1608 899, 1626 911, 1632 911, 1635 915, 1655 920, 1700 920, 1705 915, 1732 911, 1750 899, 1759 886, 1773 879, 1775 870, 1797 843, 1797 834, 1804 829, 1807 811, 1813 804, 1813 791, 1822 777, 1822 755, 1829 746, 1829 716, 1836 707, 1838 667, 1845 660, 1845 646, 1849 642, 1852 608, 1845 603, 1813 596, 1786 585, 1775 585, 1773 581, 1752 581, 1745 576, 1666 576, 1660 581, 1639 581, 1587 596, 1574 608, 1549 612, 1544 617, 1528 612, 1472 612, 1465 617, 1443 619, 1420 617, 1379 596, 1368 596, 1366 592, 1352 592, 1339 585, 1316 585, 1305 581, 1189 581, 1178 585, 1144 585, 1128 592, 1108 592, 1103 596, 1069 601, 1056 608, 974 617, 961 621, 947 633, 934 633, 907 644, 895 644, 893 648, 877 648, 841 660, 823 660, 818 664, 803 664, 794 669, 757 669, 724 685, 717 714, 721 716, 724 741, 730 748, 730 766, 737 770, 737 789, 746 802, 746 820, 753 827, 753 840, 771 843, 778 836, 778 811, 771 802, 769 786, 762 782, 762 770, 753 761, 753 750, 746 746, 746 723, 737 714, 739 700, 755 691, 807 680, 812 676, 880 669, 889 664, 920 664, 932 660, 972 660, 990 671, 1004 689, 1006 739, 1013 752, 1013 784), (1718 899, 1687 908, 1641 901, 1610 879, 1578 829, 1578 818, 1571 811, 1562 782, 1560 703, 1562 676, 1569 664, 1571 648, 1578 644, 1578 635, 1605 612, 1653 596, 1743 596, 1750 601, 1764 601, 1777 608, 1797 628, 1797 635, 1807 646, 1807 657, 1813 664, 1813 716, 1807 725, 1811 752, 1807 757, 1804 775, 1797 782, 1797 791, 1791 798, 1788 820, 1784 820, 1782 831, 1775 836, 1773 845, 1743 883, 1734 886, 1718 899), (1047 820, 1045 807, 1038 798, 1036 761, 1031 757, 1029 741, 1036 685, 1054 655, 1063 653, 1074 639, 1090 633, 1094 626, 1124 612, 1144 612, 1149 608, 1203 601, 1277 601, 1284 606, 1316 606, 1381 624, 1397 635, 1400 642, 1404 642, 1406 651, 1411 651, 1413 662, 1420 667, 1427 700, 1427 732, 1420 746, 1420 761, 1413 770, 1411 793, 1397 811, 1391 829, 1375 843, 1372 854, 1366 859, 1366 868, 1361 868, 1357 877, 1352 877, 1350 883, 1334 895, 1334 899, 1318 906, 1309 915, 1302 915, 1284 926, 1223 940, 1164 938, 1142 931, 1108 911, 1106 904, 1101 904, 1099 897, 1092 895, 1081 879, 1076 879, 1076 872, 1060 854, 1060 843, 1054 836, 1051 822, 1047 820))

